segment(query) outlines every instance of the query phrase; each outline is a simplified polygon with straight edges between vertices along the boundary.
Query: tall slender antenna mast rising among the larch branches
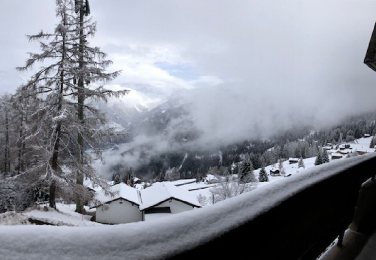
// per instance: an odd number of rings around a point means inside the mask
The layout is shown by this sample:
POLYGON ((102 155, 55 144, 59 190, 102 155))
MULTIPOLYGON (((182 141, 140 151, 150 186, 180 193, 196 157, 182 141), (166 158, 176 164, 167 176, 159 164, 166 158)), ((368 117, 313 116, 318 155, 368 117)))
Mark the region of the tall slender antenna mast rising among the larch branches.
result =
MULTIPOLYGON (((77 117, 78 120, 83 123, 84 118, 83 118, 83 104, 85 102, 85 93, 84 93, 84 82, 83 82, 83 75, 82 75, 82 69, 83 69, 83 46, 85 44, 85 36, 83 35, 83 16, 84 15, 89 15, 90 14, 90 7, 89 7, 89 1, 85 0, 85 4, 83 3, 84 0, 75 0, 74 1, 74 7, 76 14, 79 13, 79 78, 77 82, 77 88, 78 88, 78 95, 77 95, 77 103, 78 103, 78 108, 77 108, 77 117)), ((78 154, 78 159, 79 163, 82 165, 83 164, 83 137, 80 133, 77 134, 77 143, 79 144, 79 154, 78 154)), ((77 185, 83 185, 83 174, 82 172, 78 171, 77 172, 77 180, 76 180, 77 185)), ((77 194, 76 196, 76 212, 82 213, 82 198, 80 198, 80 195, 77 194)))

